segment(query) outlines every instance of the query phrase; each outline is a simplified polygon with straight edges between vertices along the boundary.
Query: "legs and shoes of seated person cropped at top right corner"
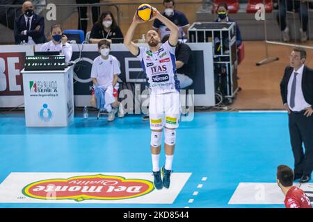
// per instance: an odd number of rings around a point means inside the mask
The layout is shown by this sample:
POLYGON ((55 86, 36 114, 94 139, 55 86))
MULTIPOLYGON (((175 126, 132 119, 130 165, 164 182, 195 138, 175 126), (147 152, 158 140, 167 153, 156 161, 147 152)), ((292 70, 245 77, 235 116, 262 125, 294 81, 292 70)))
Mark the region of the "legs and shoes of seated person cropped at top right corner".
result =
POLYGON ((282 40, 284 42, 289 42, 289 28, 286 24, 287 10, 299 12, 301 28, 300 31, 300 41, 307 41, 307 22, 309 20, 307 1, 291 1, 291 0, 279 0, 278 5, 278 15, 277 21, 280 26, 280 31, 282 31, 282 40))

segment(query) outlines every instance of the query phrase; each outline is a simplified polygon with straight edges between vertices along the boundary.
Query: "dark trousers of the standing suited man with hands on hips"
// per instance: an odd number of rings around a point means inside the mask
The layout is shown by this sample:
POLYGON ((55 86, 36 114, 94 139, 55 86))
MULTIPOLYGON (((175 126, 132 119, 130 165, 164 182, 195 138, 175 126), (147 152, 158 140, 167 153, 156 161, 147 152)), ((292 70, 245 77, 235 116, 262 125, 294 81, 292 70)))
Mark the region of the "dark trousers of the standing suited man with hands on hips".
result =
POLYGON ((313 170, 313 116, 305 117, 304 111, 289 114, 289 133, 294 153, 294 173, 311 175, 313 170), (303 146, 305 152, 303 152, 303 146))

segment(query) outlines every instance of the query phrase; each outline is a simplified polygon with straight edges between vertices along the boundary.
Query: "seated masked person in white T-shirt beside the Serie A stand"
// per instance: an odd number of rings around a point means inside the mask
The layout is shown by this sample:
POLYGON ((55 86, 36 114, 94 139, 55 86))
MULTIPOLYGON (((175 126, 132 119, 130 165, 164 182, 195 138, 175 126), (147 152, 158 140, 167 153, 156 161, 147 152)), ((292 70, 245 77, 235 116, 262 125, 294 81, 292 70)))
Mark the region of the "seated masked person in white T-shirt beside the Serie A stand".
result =
POLYGON ((113 121, 116 112, 118 117, 124 117, 125 111, 122 103, 118 101, 118 75, 121 71, 118 59, 109 55, 110 46, 111 42, 108 40, 98 42, 98 51, 101 55, 93 61, 91 78, 95 88, 97 108, 100 112, 108 111, 108 121, 113 121))

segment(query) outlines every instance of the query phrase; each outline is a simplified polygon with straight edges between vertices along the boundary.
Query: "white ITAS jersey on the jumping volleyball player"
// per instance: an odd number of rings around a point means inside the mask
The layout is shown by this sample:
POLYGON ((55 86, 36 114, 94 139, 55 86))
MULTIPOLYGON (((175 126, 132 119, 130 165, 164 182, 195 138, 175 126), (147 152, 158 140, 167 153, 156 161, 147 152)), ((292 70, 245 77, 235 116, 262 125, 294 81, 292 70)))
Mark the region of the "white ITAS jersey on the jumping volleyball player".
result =
POLYGON ((141 67, 147 74, 150 89, 155 94, 179 91, 179 80, 176 77, 175 47, 166 41, 159 51, 139 47, 137 56, 141 60, 141 67))

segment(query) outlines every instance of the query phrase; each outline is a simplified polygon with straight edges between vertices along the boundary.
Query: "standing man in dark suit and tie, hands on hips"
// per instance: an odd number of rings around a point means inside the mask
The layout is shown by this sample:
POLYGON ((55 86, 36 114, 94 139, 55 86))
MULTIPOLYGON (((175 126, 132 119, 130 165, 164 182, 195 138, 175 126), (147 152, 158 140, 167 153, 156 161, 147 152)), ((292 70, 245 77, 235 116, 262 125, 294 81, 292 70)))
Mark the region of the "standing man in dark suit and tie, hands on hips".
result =
POLYGON ((289 58, 290 66, 284 69, 280 94, 289 116, 295 180, 309 182, 313 170, 313 70, 304 65, 304 49, 295 48, 289 58))

